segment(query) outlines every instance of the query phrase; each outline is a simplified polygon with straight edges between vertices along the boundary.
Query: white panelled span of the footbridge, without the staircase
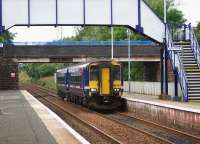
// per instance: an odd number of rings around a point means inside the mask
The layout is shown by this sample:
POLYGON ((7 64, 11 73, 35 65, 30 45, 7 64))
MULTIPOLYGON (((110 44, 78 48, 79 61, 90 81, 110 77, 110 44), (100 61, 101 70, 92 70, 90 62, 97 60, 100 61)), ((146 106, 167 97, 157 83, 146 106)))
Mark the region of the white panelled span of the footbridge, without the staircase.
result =
POLYGON ((0 0, 0 30, 13 26, 122 25, 159 42, 164 24, 143 0, 0 0))

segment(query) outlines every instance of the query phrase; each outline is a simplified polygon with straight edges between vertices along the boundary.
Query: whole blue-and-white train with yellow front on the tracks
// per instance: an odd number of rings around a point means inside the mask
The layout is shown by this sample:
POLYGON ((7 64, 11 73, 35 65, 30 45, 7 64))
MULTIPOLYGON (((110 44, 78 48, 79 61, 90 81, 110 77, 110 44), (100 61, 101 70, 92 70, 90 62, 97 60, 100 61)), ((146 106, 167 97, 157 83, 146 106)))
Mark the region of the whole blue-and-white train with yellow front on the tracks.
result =
POLYGON ((98 61, 70 66, 55 74, 58 95, 90 108, 112 110, 122 106, 122 66, 98 61))

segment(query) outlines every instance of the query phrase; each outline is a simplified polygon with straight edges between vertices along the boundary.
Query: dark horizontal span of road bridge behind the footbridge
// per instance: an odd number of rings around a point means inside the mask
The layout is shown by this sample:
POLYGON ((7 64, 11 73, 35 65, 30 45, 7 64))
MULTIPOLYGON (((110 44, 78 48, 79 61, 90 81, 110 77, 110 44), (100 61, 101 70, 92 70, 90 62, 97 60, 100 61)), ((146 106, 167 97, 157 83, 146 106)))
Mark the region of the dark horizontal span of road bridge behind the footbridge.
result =
MULTIPOLYGON (((159 45, 131 45, 131 57, 160 57, 159 45)), ((110 45, 4 45, 8 58, 110 58, 110 45)), ((128 46, 115 45, 115 58, 127 58, 128 46)))

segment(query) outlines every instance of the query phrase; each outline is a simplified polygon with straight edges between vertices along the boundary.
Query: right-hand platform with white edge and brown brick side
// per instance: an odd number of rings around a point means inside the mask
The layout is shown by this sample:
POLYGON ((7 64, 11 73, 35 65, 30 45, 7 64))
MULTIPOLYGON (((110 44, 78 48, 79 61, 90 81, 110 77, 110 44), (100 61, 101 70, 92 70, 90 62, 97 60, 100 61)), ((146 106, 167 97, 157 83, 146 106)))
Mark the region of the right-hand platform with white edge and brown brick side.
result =
POLYGON ((159 96, 124 93, 128 111, 139 117, 191 130, 200 136, 200 102, 175 102, 160 100, 159 96))

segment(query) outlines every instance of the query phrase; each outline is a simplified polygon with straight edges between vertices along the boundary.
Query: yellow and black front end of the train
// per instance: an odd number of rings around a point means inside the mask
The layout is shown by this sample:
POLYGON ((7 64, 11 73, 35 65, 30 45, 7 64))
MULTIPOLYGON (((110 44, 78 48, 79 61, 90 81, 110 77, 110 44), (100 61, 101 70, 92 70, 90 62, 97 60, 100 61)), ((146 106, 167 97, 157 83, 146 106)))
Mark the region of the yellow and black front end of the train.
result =
POLYGON ((121 106, 121 73, 121 65, 114 62, 89 66, 89 106, 97 109, 116 109, 121 106))

